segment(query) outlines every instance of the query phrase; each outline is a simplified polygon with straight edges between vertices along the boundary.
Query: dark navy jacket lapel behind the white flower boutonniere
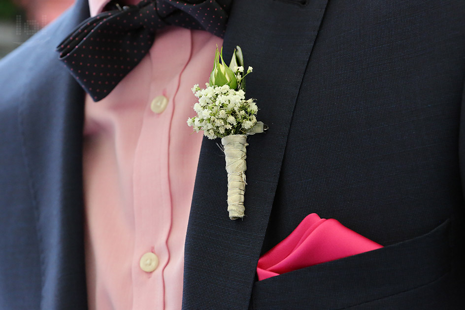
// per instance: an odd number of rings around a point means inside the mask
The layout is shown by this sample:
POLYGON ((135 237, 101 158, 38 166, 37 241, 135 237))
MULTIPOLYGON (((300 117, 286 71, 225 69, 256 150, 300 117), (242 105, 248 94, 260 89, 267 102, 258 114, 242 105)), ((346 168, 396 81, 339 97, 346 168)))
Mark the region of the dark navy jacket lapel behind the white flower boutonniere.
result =
POLYGON ((228 218, 224 154, 203 139, 186 237, 183 309, 247 309, 294 105, 327 0, 235 0, 224 55, 239 45, 247 97, 266 134, 251 136, 243 220, 228 218), (308 1, 304 1, 308 2, 308 1))

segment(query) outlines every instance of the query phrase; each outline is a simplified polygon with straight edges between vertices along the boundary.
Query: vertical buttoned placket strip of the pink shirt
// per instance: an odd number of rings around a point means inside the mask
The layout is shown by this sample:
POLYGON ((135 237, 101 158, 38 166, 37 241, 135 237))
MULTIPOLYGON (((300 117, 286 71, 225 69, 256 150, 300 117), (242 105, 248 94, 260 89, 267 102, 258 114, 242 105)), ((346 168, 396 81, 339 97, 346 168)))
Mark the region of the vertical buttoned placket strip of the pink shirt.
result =
MULTIPOLYGON (((185 35, 190 39, 188 32, 185 35)), ((157 54, 157 50, 153 53, 157 54)), ((184 46, 179 57, 187 64, 189 56, 190 51, 184 46)), ((169 140, 173 99, 182 68, 165 85, 157 82, 157 71, 153 68, 150 97, 134 156, 133 309, 147 309, 148 305, 149 309, 165 309, 164 269, 170 258, 167 239, 172 223, 169 140)))

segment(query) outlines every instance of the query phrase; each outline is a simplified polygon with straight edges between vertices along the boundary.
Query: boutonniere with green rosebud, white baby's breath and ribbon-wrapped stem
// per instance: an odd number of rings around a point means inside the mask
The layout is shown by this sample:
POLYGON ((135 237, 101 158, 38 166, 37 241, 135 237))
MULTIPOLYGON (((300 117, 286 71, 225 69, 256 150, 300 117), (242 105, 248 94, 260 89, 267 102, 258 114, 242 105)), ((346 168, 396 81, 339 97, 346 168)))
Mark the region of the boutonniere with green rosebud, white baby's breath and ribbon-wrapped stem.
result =
POLYGON ((223 60, 223 48, 221 52, 217 48, 206 88, 200 88, 199 84, 192 88, 199 99, 194 104, 197 116, 187 120, 194 131, 203 131, 207 138, 221 138, 228 172, 228 211, 232 220, 244 217, 247 136, 267 129, 262 122, 257 122, 258 107, 254 99, 245 99, 245 77, 251 72, 252 67, 244 70, 239 46, 229 66, 223 60))

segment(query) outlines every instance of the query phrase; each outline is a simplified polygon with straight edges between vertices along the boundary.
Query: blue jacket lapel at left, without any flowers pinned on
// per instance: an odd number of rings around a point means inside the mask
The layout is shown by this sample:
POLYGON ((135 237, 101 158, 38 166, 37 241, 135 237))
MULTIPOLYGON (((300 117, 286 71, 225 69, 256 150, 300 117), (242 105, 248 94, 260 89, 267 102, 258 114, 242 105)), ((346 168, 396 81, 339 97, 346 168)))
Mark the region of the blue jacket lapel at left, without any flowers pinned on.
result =
POLYGON ((19 121, 41 252, 40 309, 87 309, 81 170, 84 97, 58 61, 55 47, 88 15, 87 1, 78 0, 15 52, 26 60, 23 66, 29 73, 19 121))

